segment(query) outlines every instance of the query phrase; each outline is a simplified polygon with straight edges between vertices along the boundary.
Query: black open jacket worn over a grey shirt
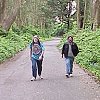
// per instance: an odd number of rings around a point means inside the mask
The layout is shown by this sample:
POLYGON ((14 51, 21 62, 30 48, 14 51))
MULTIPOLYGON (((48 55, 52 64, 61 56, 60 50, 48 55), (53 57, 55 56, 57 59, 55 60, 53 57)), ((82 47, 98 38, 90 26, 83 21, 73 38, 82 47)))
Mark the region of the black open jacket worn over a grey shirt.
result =
MULTIPOLYGON (((77 56, 77 54, 79 53, 79 50, 78 50, 78 46, 76 45, 76 43, 74 42, 72 43, 71 49, 72 49, 73 55, 77 56)), ((62 48, 62 56, 64 54, 65 58, 68 57, 68 50, 69 50, 69 44, 65 43, 62 48)))

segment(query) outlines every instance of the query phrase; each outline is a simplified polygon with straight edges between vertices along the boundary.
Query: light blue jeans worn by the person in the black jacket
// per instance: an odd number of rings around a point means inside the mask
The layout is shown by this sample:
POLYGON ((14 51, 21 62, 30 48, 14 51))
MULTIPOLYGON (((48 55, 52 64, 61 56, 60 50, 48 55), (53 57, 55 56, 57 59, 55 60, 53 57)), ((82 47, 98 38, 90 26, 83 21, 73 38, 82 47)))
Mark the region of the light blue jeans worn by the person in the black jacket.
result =
POLYGON ((66 74, 70 75, 73 72, 74 58, 73 57, 67 57, 67 58, 65 58, 65 62, 66 62, 66 74))

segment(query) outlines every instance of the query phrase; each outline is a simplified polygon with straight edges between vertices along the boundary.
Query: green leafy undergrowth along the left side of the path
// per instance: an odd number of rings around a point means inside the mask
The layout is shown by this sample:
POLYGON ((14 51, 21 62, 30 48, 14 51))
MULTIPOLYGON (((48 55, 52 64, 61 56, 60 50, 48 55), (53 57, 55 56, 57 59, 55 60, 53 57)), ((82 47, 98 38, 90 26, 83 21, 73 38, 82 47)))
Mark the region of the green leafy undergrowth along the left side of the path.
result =
POLYGON ((45 40, 47 35, 41 34, 39 28, 29 27, 13 27, 5 35, 2 31, 0 36, 0 63, 14 56, 17 52, 23 50, 32 41, 32 35, 38 34, 42 40, 45 40))

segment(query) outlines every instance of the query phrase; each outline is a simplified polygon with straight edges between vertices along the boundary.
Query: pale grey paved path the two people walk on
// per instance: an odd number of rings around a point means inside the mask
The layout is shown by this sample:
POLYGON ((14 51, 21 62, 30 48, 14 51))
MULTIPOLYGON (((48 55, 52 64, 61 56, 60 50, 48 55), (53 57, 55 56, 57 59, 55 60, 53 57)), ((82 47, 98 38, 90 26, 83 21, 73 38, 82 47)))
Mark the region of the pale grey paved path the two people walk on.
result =
POLYGON ((29 48, 0 65, 0 100, 100 100, 100 86, 77 65, 66 79, 65 62, 56 48, 59 39, 45 42, 43 80, 31 82, 29 48))

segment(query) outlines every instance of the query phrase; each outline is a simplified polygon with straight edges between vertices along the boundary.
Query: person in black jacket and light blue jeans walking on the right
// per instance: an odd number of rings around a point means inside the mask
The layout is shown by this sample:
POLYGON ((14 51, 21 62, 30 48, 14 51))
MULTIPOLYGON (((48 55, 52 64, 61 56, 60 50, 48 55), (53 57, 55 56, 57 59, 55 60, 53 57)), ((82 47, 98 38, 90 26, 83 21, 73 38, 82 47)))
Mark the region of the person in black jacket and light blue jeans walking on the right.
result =
POLYGON ((74 58, 79 53, 78 46, 73 42, 73 37, 68 36, 67 42, 64 43, 62 48, 62 58, 65 57, 66 61, 66 77, 72 76, 74 58))

